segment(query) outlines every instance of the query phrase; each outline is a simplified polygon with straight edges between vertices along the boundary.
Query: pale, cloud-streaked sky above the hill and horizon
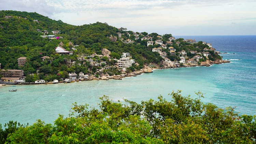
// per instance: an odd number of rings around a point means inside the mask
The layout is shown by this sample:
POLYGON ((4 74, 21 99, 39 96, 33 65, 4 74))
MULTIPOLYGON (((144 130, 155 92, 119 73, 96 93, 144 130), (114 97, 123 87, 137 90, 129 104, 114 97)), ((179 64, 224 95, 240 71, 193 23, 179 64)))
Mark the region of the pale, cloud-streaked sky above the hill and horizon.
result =
POLYGON ((256 0, 0 0, 0 10, 161 35, 256 35, 256 0))

